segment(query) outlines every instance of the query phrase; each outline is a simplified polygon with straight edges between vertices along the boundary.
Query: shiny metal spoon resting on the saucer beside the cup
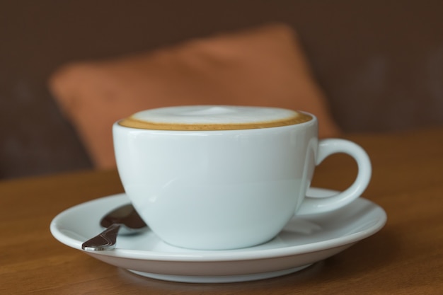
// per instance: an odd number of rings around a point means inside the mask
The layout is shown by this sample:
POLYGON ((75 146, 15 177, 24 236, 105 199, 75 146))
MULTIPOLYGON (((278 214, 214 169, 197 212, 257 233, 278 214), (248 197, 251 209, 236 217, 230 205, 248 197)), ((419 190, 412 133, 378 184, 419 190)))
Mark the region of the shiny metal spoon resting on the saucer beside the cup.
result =
POLYGON ((83 250, 111 250, 115 248, 117 233, 132 235, 147 229, 146 224, 134 207, 132 207, 132 204, 117 207, 117 209, 106 214, 100 220, 100 226, 105 228, 105 230, 84 242, 81 245, 83 250))

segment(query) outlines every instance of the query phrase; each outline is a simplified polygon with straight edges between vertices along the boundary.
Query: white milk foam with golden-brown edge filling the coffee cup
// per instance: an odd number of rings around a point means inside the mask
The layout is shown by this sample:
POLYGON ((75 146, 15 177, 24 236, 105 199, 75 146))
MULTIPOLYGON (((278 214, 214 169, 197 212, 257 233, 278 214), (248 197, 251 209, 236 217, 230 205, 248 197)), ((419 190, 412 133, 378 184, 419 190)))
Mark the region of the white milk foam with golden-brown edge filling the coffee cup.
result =
POLYGON ((310 120, 311 115, 283 108, 191 105, 144 110, 119 124, 156 130, 233 130, 294 125, 310 120))

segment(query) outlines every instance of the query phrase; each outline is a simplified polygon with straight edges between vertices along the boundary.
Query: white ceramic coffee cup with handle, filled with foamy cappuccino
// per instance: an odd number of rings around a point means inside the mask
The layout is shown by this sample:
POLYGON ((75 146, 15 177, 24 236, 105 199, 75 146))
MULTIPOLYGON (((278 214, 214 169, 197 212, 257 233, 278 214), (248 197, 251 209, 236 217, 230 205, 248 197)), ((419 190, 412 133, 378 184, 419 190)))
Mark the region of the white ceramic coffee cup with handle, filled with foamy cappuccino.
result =
POLYGON ((306 112, 224 105, 145 110, 113 125, 122 185, 142 219, 166 243, 205 250, 265 243, 294 214, 332 211, 362 194, 366 152, 317 133, 306 112), (355 182, 305 197, 315 166, 335 153, 355 158, 355 182))

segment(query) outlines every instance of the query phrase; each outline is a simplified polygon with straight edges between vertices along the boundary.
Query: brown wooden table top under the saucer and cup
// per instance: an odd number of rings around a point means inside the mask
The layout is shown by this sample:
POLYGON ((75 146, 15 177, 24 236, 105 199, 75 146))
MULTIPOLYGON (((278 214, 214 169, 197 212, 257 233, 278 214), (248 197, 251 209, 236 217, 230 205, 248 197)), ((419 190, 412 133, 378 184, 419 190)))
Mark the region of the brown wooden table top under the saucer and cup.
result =
MULTIPOLYGON (((56 241, 59 212, 122 192, 115 171, 85 171, 0 183, 0 294, 443 294, 443 128, 352 134, 373 163, 364 197, 388 214, 374 236, 284 277, 184 284, 139 277, 56 241)), ((328 158, 313 185, 343 189, 355 163, 328 158)))

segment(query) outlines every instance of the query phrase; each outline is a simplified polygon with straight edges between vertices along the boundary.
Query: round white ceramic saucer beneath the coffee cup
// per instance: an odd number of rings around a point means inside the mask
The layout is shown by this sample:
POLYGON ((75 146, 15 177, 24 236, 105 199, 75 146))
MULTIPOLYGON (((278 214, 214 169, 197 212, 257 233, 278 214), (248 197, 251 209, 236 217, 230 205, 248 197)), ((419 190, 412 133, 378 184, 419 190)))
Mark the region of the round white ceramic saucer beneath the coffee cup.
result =
MULTIPOLYGON (((312 188, 309 195, 333 195, 312 188)), ((81 250, 100 233, 98 222, 111 209, 129 202, 125 194, 94 199, 58 214, 51 223, 58 241, 81 250)), ((327 214, 294 217, 272 241, 251 248, 205 251, 177 248, 154 233, 119 236, 114 250, 87 254, 145 277, 174 282, 244 282, 289 274, 335 255, 379 231, 386 223, 381 207, 360 197, 327 214)), ((83 250, 82 250, 83 251, 83 250)))

